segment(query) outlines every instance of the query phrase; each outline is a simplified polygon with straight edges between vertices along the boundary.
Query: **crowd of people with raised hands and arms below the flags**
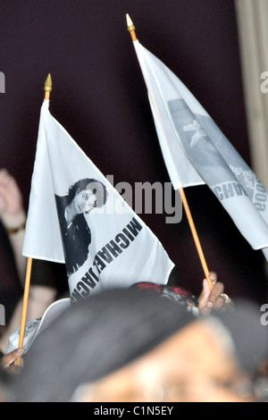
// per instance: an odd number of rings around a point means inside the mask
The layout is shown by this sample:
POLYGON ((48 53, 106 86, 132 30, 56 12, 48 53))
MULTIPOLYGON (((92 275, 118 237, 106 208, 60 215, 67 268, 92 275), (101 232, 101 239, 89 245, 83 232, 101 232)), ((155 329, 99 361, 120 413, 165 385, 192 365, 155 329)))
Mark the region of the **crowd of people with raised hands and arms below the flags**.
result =
MULTIPOLYGON (((26 214, 18 184, 6 170, 0 171, 0 217, 23 286, 26 214)), ((59 298, 51 273, 39 264, 30 287, 29 322, 59 298)), ((102 291, 66 307, 27 351, 8 352, 9 337, 21 323, 20 301, 0 337, 0 400, 268 401, 268 334, 259 308, 234 303, 217 274, 210 278, 213 288, 205 279, 198 298, 153 279, 102 291)), ((67 296, 61 290, 60 297, 67 296)))

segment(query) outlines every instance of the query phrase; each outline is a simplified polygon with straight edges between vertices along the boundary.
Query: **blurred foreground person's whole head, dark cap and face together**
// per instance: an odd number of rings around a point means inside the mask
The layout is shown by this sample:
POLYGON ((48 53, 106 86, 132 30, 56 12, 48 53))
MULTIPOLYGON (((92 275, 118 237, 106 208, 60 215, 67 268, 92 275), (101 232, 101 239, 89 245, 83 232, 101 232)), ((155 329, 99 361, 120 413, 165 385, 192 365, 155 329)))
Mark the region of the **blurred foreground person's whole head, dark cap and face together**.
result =
POLYGON ((195 316, 147 290, 107 290, 38 336, 10 401, 255 401, 250 376, 268 357, 251 304, 195 316))

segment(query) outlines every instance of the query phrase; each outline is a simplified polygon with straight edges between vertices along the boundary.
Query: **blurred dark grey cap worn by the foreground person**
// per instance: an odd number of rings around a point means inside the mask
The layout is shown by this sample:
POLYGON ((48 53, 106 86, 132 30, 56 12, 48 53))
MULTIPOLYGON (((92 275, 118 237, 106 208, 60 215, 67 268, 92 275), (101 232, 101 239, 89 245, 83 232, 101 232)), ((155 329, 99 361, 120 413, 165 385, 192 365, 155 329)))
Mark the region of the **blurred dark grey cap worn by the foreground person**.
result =
POLYGON ((38 336, 11 398, 69 401, 81 383, 127 365, 192 320, 185 308, 151 293, 98 293, 73 304, 38 336))

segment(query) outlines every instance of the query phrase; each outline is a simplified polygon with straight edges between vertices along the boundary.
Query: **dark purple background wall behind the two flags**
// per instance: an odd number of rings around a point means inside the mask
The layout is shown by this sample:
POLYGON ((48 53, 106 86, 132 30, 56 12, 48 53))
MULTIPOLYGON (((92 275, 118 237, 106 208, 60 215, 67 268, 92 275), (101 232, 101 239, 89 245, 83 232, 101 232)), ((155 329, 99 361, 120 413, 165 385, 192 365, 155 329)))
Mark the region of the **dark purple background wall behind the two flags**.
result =
MULTIPOLYGON (((44 82, 50 110, 98 168, 114 181, 169 181, 144 80, 126 29, 188 86, 250 164, 236 17, 232 0, 0 0, 0 167, 28 206, 44 82)), ((243 239, 206 187, 186 190, 207 263, 233 297, 265 300, 264 258, 243 239)), ((177 266, 181 286, 198 294, 204 277, 186 217, 143 220, 177 266)), ((3 299, 17 288, 0 236, 3 299)), ((4 302, 2 302, 4 303, 4 302)))

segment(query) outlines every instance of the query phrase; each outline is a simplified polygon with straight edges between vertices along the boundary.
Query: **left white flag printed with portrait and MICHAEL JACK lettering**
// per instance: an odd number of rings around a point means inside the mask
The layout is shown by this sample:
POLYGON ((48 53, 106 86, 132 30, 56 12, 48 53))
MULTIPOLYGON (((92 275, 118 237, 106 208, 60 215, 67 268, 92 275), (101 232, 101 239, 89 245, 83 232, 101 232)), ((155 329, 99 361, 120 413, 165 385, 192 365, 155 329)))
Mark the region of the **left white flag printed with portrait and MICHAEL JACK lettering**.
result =
POLYGON ((71 136, 41 108, 23 255, 66 264, 71 300, 138 281, 166 284, 163 246, 71 136))

